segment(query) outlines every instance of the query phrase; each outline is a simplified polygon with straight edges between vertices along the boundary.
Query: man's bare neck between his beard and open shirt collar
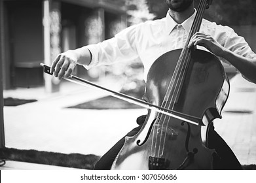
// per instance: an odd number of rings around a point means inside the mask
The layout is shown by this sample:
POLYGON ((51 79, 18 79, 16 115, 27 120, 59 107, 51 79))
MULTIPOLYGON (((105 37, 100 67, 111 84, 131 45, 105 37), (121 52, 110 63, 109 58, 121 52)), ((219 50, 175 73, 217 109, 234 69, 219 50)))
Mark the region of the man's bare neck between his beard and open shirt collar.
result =
POLYGON ((194 13, 194 5, 192 3, 191 7, 187 8, 187 10, 183 12, 175 12, 174 10, 170 9, 170 16, 177 22, 177 24, 181 24, 187 18, 189 18, 194 13))

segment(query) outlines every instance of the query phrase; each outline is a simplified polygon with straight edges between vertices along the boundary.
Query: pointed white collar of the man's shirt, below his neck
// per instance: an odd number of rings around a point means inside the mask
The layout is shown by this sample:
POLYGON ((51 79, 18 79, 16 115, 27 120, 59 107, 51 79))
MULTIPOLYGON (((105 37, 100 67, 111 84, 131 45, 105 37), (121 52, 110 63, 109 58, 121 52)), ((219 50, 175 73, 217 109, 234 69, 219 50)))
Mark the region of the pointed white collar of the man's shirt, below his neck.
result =
MULTIPOLYGON (((168 33, 168 35, 173 31, 174 27, 177 24, 177 22, 175 22, 175 20, 172 18, 172 16, 170 16, 169 13, 170 10, 168 10, 167 14, 166 14, 166 32, 168 33)), ((187 31, 187 33, 189 33, 192 23, 194 21, 194 17, 196 16, 196 9, 194 9, 194 13, 184 22, 181 23, 181 25, 183 26, 183 28, 185 29, 185 31, 187 31)))

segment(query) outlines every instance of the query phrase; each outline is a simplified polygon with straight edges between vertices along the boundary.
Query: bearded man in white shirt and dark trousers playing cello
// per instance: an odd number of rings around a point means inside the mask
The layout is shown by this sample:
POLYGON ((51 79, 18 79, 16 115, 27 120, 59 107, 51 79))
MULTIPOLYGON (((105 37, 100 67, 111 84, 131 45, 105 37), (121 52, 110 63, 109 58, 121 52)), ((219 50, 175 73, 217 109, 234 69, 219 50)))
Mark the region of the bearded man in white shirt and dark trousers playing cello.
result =
MULTIPOLYGON (((64 52, 52 63, 51 72, 54 71, 56 77, 62 78, 68 77, 76 64, 90 69, 100 64, 139 58, 144 66, 146 80, 151 65, 158 57, 170 50, 183 48, 196 14, 194 0, 166 0, 166 4, 169 7, 166 18, 133 25, 113 39, 64 52)), ((193 35, 189 42, 189 48, 192 46, 210 51, 221 61, 229 61, 247 80, 256 83, 256 55, 230 27, 203 20, 200 32, 193 35)), ((144 120, 145 116, 139 117, 139 127, 127 136, 135 135, 144 120)), ((98 161, 96 169, 110 169, 123 144, 124 138, 98 161)), ((213 162, 215 169, 242 169, 232 150, 214 131, 213 125, 209 132, 208 148, 214 148, 219 157, 218 161, 213 162)))

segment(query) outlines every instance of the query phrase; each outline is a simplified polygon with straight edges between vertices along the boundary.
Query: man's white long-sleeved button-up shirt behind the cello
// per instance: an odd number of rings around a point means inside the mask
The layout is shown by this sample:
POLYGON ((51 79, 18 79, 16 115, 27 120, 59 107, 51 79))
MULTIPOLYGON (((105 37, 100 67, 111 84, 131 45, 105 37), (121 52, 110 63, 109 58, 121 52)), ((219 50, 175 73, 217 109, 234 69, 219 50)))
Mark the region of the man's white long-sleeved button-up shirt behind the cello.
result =
MULTIPOLYGON (((92 53, 92 61, 85 68, 140 59, 146 79, 151 65, 158 57, 170 50, 183 48, 195 15, 196 11, 185 22, 177 24, 168 12, 165 18, 132 25, 112 39, 88 45, 87 48, 92 53)), ((245 39, 238 36, 230 27, 203 19, 200 32, 210 34, 222 46, 240 56, 246 58, 256 56, 245 39)), ((207 50, 202 46, 197 48, 207 50)), ((219 59, 225 61, 223 58, 219 59)))

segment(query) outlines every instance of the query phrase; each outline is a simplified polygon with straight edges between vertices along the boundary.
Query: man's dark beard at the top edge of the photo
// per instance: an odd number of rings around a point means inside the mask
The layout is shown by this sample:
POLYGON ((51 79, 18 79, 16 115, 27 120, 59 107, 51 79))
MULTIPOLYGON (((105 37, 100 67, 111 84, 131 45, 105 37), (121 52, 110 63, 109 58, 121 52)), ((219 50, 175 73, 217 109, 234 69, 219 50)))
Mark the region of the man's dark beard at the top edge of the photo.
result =
POLYGON ((171 10, 175 12, 183 12, 187 10, 191 6, 194 0, 165 0, 166 4, 171 10))

